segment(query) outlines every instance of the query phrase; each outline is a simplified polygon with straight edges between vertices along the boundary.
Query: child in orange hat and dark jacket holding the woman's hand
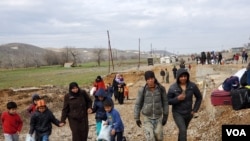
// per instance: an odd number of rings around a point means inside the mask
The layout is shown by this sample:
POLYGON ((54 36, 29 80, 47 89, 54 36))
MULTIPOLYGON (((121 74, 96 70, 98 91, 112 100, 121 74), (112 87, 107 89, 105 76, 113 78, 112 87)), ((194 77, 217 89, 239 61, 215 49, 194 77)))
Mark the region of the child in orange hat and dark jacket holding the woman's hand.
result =
POLYGON ((37 101, 37 110, 31 116, 29 134, 35 131, 36 141, 49 141, 49 136, 52 132, 52 123, 58 127, 64 125, 55 118, 54 114, 48 109, 43 99, 37 101))

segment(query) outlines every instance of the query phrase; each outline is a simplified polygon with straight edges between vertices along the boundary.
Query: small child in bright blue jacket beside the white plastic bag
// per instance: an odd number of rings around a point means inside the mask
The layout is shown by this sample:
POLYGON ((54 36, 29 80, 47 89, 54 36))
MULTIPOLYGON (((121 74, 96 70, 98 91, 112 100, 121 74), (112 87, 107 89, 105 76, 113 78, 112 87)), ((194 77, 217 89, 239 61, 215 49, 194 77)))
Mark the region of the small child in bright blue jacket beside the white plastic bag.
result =
POLYGON ((111 141, 122 141, 124 125, 119 112, 114 109, 114 104, 110 99, 106 99, 103 105, 107 114, 107 121, 105 124, 111 125, 111 141))

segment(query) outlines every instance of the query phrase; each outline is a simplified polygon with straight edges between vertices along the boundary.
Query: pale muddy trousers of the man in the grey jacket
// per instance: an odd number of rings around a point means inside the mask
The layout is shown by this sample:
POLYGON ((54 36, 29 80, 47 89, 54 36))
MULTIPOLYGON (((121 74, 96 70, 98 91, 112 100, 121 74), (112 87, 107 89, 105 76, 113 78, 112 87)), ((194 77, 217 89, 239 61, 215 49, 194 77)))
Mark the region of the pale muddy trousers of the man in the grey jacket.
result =
POLYGON ((147 141, 163 141, 162 117, 158 119, 144 118, 144 136, 147 141))

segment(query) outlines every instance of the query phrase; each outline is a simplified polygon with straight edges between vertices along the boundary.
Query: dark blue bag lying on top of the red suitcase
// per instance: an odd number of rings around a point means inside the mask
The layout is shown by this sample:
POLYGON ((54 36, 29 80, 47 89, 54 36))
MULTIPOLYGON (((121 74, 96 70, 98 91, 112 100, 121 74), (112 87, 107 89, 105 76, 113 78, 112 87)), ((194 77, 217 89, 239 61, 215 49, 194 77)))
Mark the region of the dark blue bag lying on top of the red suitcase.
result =
POLYGON ((231 91, 232 89, 237 89, 240 87, 239 77, 238 76, 230 76, 225 79, 222 83, 222 88, 225 91, 231 91))

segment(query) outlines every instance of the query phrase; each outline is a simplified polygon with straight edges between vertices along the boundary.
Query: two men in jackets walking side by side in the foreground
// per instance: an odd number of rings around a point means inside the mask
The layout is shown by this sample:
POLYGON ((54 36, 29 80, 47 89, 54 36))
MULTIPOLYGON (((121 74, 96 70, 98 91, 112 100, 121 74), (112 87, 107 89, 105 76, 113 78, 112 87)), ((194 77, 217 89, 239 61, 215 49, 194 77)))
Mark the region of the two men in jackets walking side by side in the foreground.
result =
POLYGON ((163 126, 167 123, 169 105, 172 105, 173 119, 179 129, 178 141, 187 141, 188 125, 202 101, 201 92, 190 81, 187 69, 176 71, 176 82, 168 90, 158 82, 153 71, 145 72, 145 80, 146 85, 139 89, 134 107, 135 122, 143 127, 145 139, 163 141, 163 126))

